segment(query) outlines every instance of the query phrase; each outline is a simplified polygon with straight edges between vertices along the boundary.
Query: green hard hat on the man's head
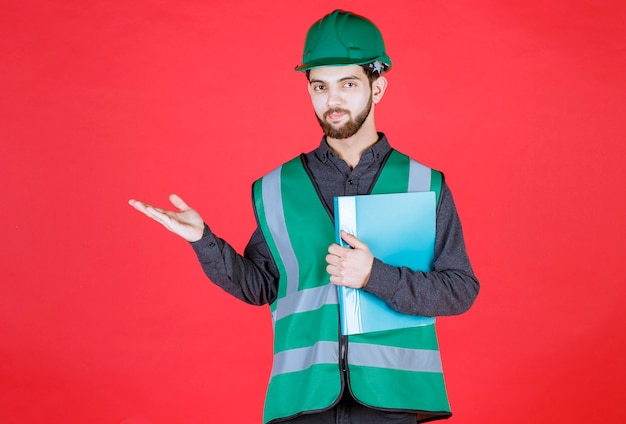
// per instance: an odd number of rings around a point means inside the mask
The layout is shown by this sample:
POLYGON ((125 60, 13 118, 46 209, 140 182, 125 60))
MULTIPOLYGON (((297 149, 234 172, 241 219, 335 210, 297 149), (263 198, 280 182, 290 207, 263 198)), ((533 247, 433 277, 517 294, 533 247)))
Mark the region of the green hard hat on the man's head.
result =
MULTIPOLYGON (((380 62, 391 68, 383 36, 372 21, 351 12, 335 10, 315 22, 306 36, 302 64, 296 71, 319 66, 364 65, 380 62)), ((381 70, 378 66, 377 70, 381 70)), ((382 73, 382 72, 381 72, 382 73)))

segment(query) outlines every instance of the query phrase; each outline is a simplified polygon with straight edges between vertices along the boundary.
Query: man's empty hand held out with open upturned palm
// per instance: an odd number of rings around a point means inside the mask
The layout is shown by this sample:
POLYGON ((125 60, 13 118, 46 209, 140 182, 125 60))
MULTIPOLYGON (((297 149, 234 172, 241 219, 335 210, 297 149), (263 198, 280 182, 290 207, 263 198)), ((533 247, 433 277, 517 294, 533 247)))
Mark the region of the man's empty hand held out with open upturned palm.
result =
POLYGON ((162 224, 165 228, 178 234, 187 241, 198 241, 204 233, 204 221, 198 212, 190 208, 187 203, 176 194, 170 195, 170 202, 178 212, 156 208, 139 200, 131 199, 128 203, 139 212, 162 224))

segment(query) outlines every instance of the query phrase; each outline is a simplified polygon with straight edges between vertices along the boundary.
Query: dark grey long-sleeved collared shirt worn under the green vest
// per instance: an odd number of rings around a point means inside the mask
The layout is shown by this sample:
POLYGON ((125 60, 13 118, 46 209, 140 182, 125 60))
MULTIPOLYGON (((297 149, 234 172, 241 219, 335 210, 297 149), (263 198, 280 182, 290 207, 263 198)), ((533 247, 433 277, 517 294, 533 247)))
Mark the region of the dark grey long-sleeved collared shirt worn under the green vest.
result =
MULTIPOLYGON (((305 155, 322 201, 332 215, 335 196, 369 194, 391 147, 384 134, 350 169, 323 138, 305 155)), ((208 226, 202 239, 191 243, 205 274, 233 296, 254 304, 271 303, 278 291, 278 270, 257 226, 244 254, 215 236, 208 226)), ((320 258, 321 261, 324 258, 320 258)), ((437 208, 435 260, 430 272, 412 271, 374 259, 364 290, 376 294, 399 312, 424 316, 456 315, 473 304, 479 283, 469 262, 461 222, 452 194, 443 181, 437 208)))

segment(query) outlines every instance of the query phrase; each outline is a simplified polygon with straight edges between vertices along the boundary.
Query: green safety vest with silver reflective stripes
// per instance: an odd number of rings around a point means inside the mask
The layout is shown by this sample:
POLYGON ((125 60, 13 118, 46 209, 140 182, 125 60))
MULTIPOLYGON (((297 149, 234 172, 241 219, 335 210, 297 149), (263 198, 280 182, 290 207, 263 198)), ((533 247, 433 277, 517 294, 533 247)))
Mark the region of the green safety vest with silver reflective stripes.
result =
MULTIPOLYGON (((435 191, 438 201, 441 182, 438 171, 392 150, 372 194, 435 191)), ((337 288, 324 260, 335 231, 302 157, 257 180, 253 197, 280 273, 267 423, 327 409, 342 394, 337 288)), ((451 415, 434 324, 348 336, 347 346, 348 387, 359 402, 425 420, 451 415)))

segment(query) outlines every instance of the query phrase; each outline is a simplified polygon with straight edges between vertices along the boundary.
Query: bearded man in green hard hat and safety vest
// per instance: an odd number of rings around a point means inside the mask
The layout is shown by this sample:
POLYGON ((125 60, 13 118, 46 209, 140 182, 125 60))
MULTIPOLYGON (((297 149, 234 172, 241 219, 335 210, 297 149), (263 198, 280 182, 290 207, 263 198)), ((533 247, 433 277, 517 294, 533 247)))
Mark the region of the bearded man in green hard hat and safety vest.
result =
POLYGON ((243 256, 176 195, 170 200, 178 211, 130 201, 191 242, 215 284, 245 302, 270 304, 275 340, 265 422, 451 416, 434 325, 356 336, 339 331, 336 286, 425 316, 463 313, 479 290, 442 174, 393 150, 376 130, 374 111, 388 83, 382 75, 390 68, 382 36, 366 18, 337 10, 310 28, 296 70, 306 72, 325 136, 317 149, 255 182, 258 227, 243 256), (334 196, 403 192, 414 182, 438 193, 432 271, 385 264, 345 232, 351 248, 333 243, 334 196))

